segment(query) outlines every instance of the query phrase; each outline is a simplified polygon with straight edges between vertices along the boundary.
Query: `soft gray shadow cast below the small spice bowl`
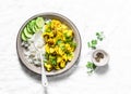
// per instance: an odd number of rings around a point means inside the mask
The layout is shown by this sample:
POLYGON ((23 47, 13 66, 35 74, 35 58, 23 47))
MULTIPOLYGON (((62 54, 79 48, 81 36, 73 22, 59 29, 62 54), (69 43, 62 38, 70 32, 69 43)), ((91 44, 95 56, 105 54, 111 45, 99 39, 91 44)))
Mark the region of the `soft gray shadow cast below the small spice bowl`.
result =
POLYGON ((109 70, 109 65, 107 64, 107 65, 105 65, 105 66, 97 67, 97 68, 95 69, 95 72, 96 72, 97 75, 104 75, 104 73, 106 73, 108 70, 109 70))

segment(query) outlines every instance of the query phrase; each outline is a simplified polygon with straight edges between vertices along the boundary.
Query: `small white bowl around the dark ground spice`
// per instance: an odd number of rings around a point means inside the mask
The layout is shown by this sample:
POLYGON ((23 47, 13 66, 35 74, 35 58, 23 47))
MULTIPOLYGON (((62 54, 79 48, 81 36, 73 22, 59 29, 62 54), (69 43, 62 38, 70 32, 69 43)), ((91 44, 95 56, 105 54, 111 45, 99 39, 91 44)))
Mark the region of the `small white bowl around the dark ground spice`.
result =
POLYGON ((105 66, 109 62, 109 55, 104 50, 95 50, 92 54, 92 62, 96 66, 105 66), (97 53, 102 53, 104 55, 104 58, 100 58, 99 62, 95 59, 97 53))

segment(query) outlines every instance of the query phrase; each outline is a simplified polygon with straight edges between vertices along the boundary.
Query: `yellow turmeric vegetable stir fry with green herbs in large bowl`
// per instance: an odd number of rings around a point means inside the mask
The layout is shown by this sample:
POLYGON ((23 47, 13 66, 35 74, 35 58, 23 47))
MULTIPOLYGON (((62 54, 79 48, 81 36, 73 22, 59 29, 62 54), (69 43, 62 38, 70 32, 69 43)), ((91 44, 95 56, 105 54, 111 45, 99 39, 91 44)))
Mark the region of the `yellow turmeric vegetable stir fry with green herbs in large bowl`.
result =
POLYGON ((45 41, 44 66, 47 71, 59 70, 73 58, 76 43, 73 41, 74 33, 60 21, 51 19, 45 25, 43 32, 45 41))

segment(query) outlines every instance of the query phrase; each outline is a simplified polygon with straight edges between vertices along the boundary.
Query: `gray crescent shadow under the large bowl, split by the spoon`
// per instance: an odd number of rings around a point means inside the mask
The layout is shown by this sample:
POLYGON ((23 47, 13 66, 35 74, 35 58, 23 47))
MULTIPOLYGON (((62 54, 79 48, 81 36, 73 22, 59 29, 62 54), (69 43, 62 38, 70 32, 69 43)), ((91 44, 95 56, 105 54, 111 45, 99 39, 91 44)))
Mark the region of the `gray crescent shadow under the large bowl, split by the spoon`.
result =
MULTIPOLYGON (((79 62, 80 62, 80 59, 78 59, 75 65, 71 69, 69 69, 68 71, 66 71, 61 75, 58 75, 58 76, 48 77, 48 81, 49 82, 51 82, 51 81, 56 82, 56 81, 60 81, 60 80, 66 80, 71 73, 75 72, 74 70, 76 69, 79 62)), ((27 77, 34 79, 35 81, 37 81, 39 83, 41 82, 41 76, 40 75, 31 71, 21 61, 20 61, 20 64, 21 64, 21 67, 23 69, 23 71, 25 72, 25 75, 27 77)))

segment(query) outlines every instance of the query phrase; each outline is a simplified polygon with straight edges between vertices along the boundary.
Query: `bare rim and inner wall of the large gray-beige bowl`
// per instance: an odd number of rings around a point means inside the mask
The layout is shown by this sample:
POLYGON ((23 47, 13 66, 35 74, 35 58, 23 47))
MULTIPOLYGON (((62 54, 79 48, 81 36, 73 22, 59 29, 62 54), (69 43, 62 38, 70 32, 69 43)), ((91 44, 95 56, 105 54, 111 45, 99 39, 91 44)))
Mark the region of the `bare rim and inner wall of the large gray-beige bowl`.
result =
POLYGON ((79 30, 74 26, 74 24, 69 18, 64 17, 61 14, 58 14, 58 13, 41 13, 41 14, 37 14, 37 15, 31 17, 29 19, 27 19, 23 24, 23 26, 21 27, 21 29, 20 29, 20 31, 17 33, 17 38, 16 38, 16 51, 17 51, 19 58, 21 59, 21 62, 29 70, 32 70, 32 71, 34 71, 36 73, 39 73, 39 75, 41 73, 40 67, 36 67, 35 65, 27 63, 27 59, 25 58, 24 53, 23 53, 24 48, 21 45, 21 43, 22 43, 21 32, 22 32, 23 28, 25 27, 25 25, 29 21, 32 21, 32 19, 34 19, 35 17, 38 17, 38 16, 41 16, 41 17, 45 17, 45 18, 50 18, 50 19, 51 18, 59 19, 60 22, 62 22, 66 25, 68 25, 74 31, 74 40, 76 41, 76 49, 75 49, 75 52, 74 52, 73 59, 70 63, 67 64, 66 68, 63 68, 61 70, 53 70, 53 71, 50 71, 50 72, 46 71, 47 76, 57 76, 57 75, 64 73, 64 72, 67 72, 69 69, 71 69, 76 64, 76 62, 78 62, 78 59, 80 57, 80 53, 81 53, 81 37, 80 37, 79 30))

